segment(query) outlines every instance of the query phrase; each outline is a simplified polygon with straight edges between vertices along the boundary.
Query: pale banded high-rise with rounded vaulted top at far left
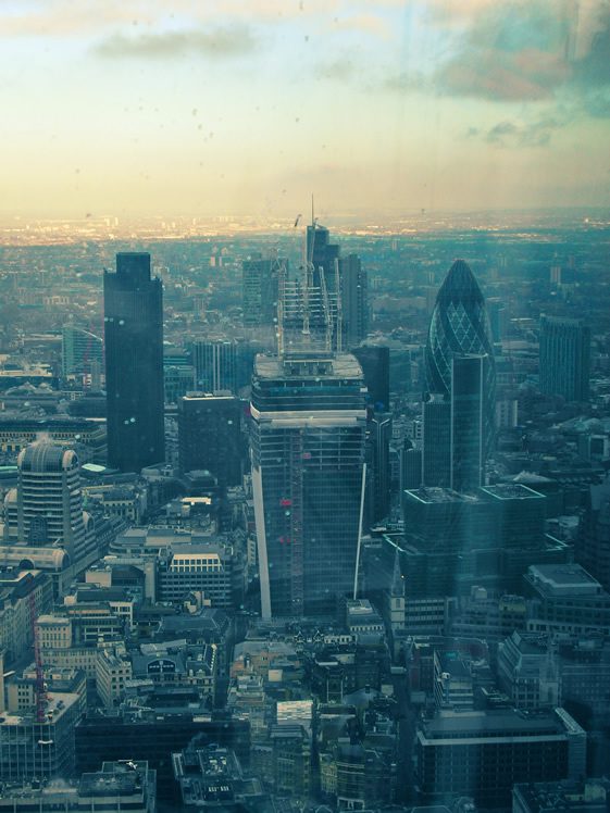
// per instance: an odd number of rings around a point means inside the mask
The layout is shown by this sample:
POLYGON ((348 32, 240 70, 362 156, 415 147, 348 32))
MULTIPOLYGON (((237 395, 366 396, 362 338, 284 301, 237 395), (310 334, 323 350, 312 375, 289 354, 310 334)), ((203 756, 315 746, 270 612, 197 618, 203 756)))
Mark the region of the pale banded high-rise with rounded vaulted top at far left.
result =
POLYGON ((59 542, 76 570, 98 555, 92 520, 83 511, 75 452, 39 440, 17 458, 17 538, 32 546, 59 542))

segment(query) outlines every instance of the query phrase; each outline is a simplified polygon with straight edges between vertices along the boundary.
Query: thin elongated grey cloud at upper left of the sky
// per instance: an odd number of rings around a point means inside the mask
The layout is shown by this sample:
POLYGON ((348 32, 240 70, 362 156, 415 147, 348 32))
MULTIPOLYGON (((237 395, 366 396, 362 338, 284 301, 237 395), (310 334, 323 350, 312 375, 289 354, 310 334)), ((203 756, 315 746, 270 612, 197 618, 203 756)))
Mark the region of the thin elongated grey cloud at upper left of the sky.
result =
POLYGON ((258 46, 259 40, 250 28, 232 25, 209 30, 175 30, 139 36, 114 34, 99 42, 95 51, 112 59, 174 59, 187 54, 224 59, 251 53, 258 46))

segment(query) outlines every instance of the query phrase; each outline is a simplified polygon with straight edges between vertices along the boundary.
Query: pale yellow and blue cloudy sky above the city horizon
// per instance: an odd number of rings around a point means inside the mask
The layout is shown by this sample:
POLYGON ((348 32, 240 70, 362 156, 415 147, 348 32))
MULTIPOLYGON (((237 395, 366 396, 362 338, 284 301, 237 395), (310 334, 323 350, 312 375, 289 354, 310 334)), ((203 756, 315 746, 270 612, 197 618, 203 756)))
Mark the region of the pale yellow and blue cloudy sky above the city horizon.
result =
POLYGON ((610 207, 610 0, 0 0, 0 213, 610 207))

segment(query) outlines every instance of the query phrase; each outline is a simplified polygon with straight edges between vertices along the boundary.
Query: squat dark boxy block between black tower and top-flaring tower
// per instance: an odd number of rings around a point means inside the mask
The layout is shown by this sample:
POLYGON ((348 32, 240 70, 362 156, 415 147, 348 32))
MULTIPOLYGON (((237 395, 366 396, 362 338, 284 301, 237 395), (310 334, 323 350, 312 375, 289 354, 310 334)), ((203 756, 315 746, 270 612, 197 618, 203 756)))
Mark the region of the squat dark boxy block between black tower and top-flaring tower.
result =
POLYGON ((180 398, 180 471, 207 470, 220 486, 238 486, 244 459, 241 413, 241 402, 234 396, 194 393, 180 398))

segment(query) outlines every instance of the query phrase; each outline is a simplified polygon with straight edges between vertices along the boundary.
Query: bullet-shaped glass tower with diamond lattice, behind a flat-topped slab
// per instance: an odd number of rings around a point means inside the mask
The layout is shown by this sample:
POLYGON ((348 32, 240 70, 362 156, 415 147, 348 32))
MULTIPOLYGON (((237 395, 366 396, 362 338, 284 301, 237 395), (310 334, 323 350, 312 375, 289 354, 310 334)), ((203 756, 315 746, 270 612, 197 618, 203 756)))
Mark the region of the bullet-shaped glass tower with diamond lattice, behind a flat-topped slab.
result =
POLYGON ((487 458, 494 443, 496 365, 485 299, 470 266, 457 260, 436 297, 425 349, 426 389, 450 397, 451 359, 486 357, 483 371, 483 447, 487 458))

